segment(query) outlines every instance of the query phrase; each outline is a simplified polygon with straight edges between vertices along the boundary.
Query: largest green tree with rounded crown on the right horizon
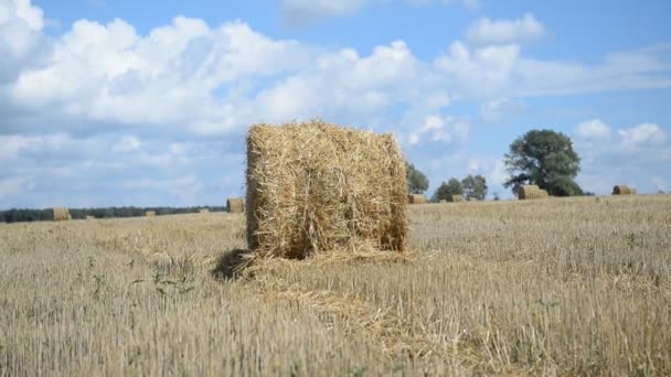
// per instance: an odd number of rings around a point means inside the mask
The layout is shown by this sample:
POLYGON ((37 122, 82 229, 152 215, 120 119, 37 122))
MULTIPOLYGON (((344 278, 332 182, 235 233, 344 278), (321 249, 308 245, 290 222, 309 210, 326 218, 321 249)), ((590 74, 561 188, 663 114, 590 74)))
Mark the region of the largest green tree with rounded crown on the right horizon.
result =
POLYGON ((512 186, 515 195, 523 184, 536 184, 554 196, 581 195, 583 192, 574 181, 581 171, 581 158, 564 133, 531 130, 510 144, 503 163, 511 174, 503 186, 512 186))

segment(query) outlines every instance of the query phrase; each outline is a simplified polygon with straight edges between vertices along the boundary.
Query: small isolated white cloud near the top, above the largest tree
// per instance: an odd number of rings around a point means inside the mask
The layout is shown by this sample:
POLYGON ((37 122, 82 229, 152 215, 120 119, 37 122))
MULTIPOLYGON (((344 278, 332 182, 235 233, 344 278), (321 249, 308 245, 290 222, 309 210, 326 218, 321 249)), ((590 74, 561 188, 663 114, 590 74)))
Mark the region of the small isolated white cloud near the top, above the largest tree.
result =
POLYGON ((480 19, 468 29, 466 37, 475 45, 518 44, 545 35, 545 26, 531 13, 518 20, 480 19))

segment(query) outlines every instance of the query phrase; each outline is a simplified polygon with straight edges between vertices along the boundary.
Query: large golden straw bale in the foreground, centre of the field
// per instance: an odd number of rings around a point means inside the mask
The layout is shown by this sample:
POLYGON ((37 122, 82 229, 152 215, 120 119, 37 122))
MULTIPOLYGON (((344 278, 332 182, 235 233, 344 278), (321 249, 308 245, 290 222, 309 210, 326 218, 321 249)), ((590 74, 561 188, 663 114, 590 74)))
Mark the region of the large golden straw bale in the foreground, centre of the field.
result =
POLYGON ((391 134, 320 120, 256 125, 247 136, 247 244, 305 258, 366 244, 404 250, 405 159, 391 134))

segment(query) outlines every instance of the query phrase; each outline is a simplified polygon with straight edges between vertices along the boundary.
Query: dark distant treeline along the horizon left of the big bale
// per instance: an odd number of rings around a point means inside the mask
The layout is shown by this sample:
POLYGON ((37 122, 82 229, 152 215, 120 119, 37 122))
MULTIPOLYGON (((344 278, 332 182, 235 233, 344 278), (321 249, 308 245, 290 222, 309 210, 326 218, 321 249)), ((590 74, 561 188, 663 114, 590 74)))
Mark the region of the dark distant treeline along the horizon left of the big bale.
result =
MULTIPOLYGON (((70 215, 73 219, 84 219, 86 216, 95 218, 113 218, 113 217, 138 217, 145 216, 145 212, 155 211, 157 216, 160 215, 177 215, 198 213, 199 209, 209 209, 210 212, 225 212, 226 207, 109 207, 109 208, 70 208, 70 215)), ((0 223, 21 223, 21 222, 47 222, 54 218, 52 208, 47 209, 10 209, 0 211, 0 223)))

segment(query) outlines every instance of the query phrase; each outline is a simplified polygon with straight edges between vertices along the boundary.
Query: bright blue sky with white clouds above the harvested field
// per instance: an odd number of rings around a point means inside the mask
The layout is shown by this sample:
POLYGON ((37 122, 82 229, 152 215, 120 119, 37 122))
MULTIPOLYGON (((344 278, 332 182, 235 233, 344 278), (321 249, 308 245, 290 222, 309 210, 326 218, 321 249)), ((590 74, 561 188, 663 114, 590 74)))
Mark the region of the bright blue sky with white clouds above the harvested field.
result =
POLYGON ((258 121, 393 132, 432 194, 530 129, 671 190, 671 2, 0 0, 0 209, 221 205, 258 121))

